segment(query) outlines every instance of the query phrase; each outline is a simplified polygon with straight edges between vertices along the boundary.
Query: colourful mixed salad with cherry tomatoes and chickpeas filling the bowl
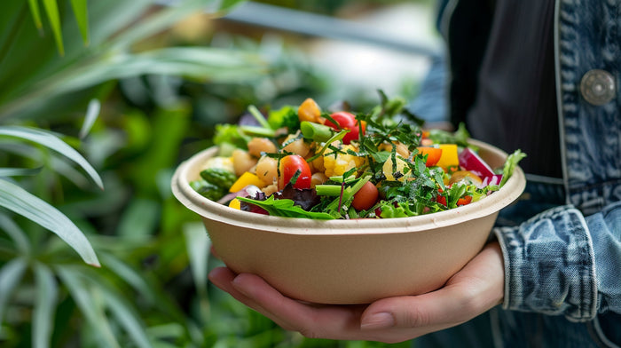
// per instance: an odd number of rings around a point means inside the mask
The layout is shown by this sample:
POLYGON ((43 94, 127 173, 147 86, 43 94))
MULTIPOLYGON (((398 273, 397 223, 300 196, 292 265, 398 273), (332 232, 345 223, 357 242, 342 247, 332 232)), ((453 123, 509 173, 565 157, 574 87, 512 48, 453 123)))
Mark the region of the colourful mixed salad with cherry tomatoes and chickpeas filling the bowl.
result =
POLYGON ((388 99, 368 113, 313 99, 216 126, 218 154, 195 191, 233 209, 291 218, 401 218, 455 209, 499 190, 525 156, 491 169, 455 132, 422 130, 388 99))

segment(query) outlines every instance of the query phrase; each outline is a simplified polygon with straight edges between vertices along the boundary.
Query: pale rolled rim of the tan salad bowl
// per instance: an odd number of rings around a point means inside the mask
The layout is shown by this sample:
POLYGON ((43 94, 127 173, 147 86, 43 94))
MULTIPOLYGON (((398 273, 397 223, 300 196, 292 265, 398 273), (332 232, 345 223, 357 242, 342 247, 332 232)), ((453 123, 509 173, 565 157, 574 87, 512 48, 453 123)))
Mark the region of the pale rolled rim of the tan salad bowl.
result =
MULTIPOLYGON (((468 143, 483 148, 485 151, 507 157, 507 153, 496 146, 483 143, 476 139, 469 139, 468 143)), ((384 233, 410 233, 426 231, 448 225, 484 218, 498 213, 511 202, 514 202, 526 186, 526 178, 523 170, 515 167, 511 178, 507 180, 498 192, 484 199, 460 206, 452 210, 444 210, 408 218, 361 218, 361 219, 334 219, 317 220, 311 218, 284 218, 250 213, 230 208, 226 205, 213 202, 200 195, 190 186, 188 176, 190 170, 199 162, 204 162, 209 156, 216 154, 217 146, 211 146, 194 154, 189 159, 181 162, 173 174, 171 188, 174 196, 189 210, 193 210, 202 218, 216 220, 227 225, 236 225, 267 232, 287 234, 311 234, 311 235, 334 235, 334 234, 384 234, 384 233)))

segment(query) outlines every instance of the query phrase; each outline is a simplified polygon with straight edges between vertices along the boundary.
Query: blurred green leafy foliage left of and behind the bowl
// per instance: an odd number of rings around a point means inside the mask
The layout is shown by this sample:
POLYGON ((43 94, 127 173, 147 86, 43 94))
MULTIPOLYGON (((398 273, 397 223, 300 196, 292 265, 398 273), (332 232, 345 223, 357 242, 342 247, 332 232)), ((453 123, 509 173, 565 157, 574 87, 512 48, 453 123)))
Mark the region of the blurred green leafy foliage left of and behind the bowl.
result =
MULTIPOLYGON (((237 3, 4 3, 1 346, 411 346, 308 339, 208 284, 218 260, 170 193, 177 164, 248 105, 327 103, 340 87, 307 59, 309 37, 218 20, 237 3)), ((264 3, 347 17, 403 1, 264 3)))

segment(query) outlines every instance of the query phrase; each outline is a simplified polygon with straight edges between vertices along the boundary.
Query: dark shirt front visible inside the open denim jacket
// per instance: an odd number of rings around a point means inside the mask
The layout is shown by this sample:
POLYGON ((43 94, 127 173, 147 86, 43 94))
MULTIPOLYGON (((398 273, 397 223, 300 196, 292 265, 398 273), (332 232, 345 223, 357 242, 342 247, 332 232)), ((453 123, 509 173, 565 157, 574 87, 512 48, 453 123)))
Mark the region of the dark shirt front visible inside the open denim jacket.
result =
POLYGON ((562 178, 554 1, 497 0, 466 123, 473 138, 522 149, 527 173, 562 178))

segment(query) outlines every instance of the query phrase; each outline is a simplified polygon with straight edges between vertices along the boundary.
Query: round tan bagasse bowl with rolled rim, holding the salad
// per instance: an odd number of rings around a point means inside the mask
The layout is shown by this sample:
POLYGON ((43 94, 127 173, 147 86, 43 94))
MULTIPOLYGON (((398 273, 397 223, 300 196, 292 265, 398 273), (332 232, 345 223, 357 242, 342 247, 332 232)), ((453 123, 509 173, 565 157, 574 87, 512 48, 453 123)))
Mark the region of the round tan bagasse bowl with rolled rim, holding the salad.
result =
MULTIPOLYGON (((492 168, 507 154, 472 140, 492 168)), ((181 163, 172 190, 200 215, 224 264, 255 273, 287 297, 319 304, 367 304, 441 288, 487 241, 499 210, 522 194, 518 167, 505 186, 478 202, 412 218, 313 220, 235 210, 196 193, 190 181, 217 148, 181 163)))

